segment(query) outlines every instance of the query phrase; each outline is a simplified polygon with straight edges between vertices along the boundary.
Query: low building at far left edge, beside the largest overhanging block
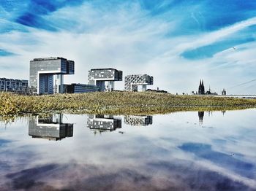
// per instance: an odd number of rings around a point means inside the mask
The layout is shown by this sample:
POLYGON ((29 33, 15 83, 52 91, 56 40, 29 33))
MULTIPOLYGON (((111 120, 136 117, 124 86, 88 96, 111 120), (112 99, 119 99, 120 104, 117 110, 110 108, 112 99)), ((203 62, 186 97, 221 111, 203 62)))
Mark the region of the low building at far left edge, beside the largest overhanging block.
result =
POLYGON ((29 81, 25 79, 0 78, 0 91, 26 93, 29 90, 29 81))

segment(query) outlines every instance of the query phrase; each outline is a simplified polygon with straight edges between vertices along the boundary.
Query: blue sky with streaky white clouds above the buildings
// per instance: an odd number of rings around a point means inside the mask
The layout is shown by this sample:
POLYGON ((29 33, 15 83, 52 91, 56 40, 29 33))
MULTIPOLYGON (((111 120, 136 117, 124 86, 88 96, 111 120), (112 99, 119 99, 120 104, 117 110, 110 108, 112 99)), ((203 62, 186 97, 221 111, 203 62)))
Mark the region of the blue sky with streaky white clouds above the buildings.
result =
POLYGON ((59 56, 75 61, 65 83, 115 68, 170 93, 203 79, 206 90, 255 95, 255 31, 255 0, 1 0, 0 77, 29 79, 29 61, 59 56))

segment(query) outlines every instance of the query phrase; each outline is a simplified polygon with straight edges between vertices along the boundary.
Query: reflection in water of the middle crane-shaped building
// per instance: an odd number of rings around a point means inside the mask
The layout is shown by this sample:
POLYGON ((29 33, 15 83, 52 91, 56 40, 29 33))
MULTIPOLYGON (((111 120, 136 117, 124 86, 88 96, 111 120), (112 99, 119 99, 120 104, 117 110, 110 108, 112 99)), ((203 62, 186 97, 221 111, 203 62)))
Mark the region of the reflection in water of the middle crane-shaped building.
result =
POLYGON ((89 114, 87 116, 87 127, 92 130, 112 131, 121 128, 121 119, 115 118, 112 115, 89 114))

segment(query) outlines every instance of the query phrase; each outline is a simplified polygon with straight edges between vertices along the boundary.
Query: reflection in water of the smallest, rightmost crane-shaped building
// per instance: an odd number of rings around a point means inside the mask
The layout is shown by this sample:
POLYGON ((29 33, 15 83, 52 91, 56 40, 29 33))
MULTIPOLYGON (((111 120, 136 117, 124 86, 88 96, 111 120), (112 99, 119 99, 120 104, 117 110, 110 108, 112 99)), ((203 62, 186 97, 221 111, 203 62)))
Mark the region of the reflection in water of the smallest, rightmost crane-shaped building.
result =
POLYGON ((136 126, 151 125, 153 123, 153 117, 128 115, 124 117, 124 123, 128 125, 136 125, 136 126))

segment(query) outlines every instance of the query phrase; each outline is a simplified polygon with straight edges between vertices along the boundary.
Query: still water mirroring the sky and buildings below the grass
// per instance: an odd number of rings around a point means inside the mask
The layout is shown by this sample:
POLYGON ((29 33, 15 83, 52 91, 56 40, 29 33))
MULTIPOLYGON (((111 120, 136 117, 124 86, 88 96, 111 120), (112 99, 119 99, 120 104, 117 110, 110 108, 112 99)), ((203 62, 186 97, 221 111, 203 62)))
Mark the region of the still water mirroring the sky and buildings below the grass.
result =
POLYGON ((0 123, 0 190, 256 190, 256 109, 0 123))

